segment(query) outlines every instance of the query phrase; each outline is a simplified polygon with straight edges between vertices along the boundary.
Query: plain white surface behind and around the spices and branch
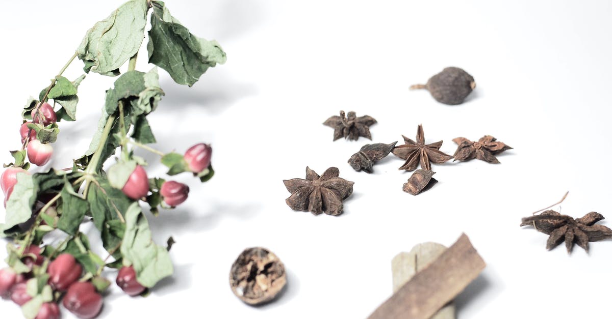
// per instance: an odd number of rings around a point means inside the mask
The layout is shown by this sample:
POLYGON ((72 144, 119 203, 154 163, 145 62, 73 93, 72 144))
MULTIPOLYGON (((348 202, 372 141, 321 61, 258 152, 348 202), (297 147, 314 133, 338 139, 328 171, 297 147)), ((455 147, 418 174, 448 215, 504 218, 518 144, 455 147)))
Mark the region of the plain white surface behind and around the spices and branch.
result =
MULTIPOLYGON (((19 147, 26 99, 48 85, 84 32, 121 3, 2 4, 0 149, 19 147)), ((610 2, 166 4, 194 34, 217 39, 228 62, 192 88, 160 70, 166 97, 149 116, 155 147, 184 152, 210 142, 217 174, 205 184, 179 175, 191 187, 190 199, 149 218, 158 243, 170 235, 177 241, 174 276, 148 298, 129 298, 113 285, 100 317, 366 318, 390 296, 395 254, 422 241, 450 245, 461 232, 487 262, 458 297, 461 318, 609 316, 612 241, 591 243, 590 254, 576 247, 567 255, 562 246, 547 251, 547 235, 518 225, 565 191, 562 213, 612 218, 610 2), (450 65, 476 78, 463 105, 408 90, 450 65), (397 170, 398 158, 384 159, 371 175, 348 166, 369 141, 332 142, 333 130, 321 123, 340 109, 375 117, 374 142, 414 138, 422 123, 426 141, 444 139, 446 153, 455 151, 453 138, 485 134, 514 149, 499 156, 502 164, 435 165, 439 183, 414 197, 401 191, 410 174, 397 170), (355 182, 343 215, 286 206, 282 180, 303 178, 306 166, 319 174, 337 166, 355 182), (251 246, 274 251, 288 271, 286 292, 263 307, 246 306, 228 285, 231 263, 251 246)), ((75 62, 65 76, 76 78, 81 66, 75 62)), ((142 50, 138 70, 149 68, 142 50)), ((83 81, 78 121, 61 123, 54 167, 71 166, 87 149, 113 81, 97 74, 83 81)), ((150 176, 163 175, 155 155, 138 153, 150 161, 150 176)), ((8 163, 9 153, 1 160, 8 163)), ((82 230, 95 236, 91 228, 82 230)), ((10 301, 0 301, 0 313, 20 317, 10 301)), ((64 318, 73 317, 64 310, 64 318)))

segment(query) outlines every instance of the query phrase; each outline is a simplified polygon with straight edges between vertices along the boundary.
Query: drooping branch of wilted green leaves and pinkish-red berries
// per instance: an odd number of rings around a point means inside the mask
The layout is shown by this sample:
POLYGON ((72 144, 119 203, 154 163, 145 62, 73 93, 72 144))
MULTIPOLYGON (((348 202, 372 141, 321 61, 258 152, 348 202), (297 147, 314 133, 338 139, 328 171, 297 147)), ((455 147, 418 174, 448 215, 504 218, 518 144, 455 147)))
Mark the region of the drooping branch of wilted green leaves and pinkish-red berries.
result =
POLYGON ((10 152, 15 160, 0 176, 6 207, 0 237, 14 241, 7 246, 7 266, 0 270, 0 296, 21 306, 26 318, 59 318, 59 303, 77 317, 94 318, 111 284, 104 270, 117 269, 115 282, 130 296, 146 293, 173 273, 168 250, 174 241, 170 238, 168 247, 152 241, 140 205, 159 214, 160 208, 185 202, 189 187, 148 176, 146 161, 133 150, 159 155, 167 175, 187 172, 200 182, 209 180, 214 174, 211 146, 198 143, 184 153, 153 149, 147 145, 155 142, 147 115, 164 95, 157 67, 178 84, 192 86, 207 68, 225 59, 217 42, 191 34, 162 1, 130 0, 86 33, 59 75, 24 107, 21 149, 10 152), (147 16, 149 62, 156 67, 144 73, 135 65, 147 16), (172 62, 176 56, 184 64, 172 62), (69 81, 62 73, 77 57, 86 73, 119 77, 106 90, 89 150, 68 169, 37 169, 51 163, 58 123, 76 120, 78 86, 85 76, 69 81), (124 64, 129 66, 120 75, 124 64), (116 163, 103 170, 113 155, 116 163), (106 257, 90 248, 89 238, 79 230, 83 222, 93 222, 99 231, 106 257), (43 244, 48 233, 63 237, 62 242, 43 244))

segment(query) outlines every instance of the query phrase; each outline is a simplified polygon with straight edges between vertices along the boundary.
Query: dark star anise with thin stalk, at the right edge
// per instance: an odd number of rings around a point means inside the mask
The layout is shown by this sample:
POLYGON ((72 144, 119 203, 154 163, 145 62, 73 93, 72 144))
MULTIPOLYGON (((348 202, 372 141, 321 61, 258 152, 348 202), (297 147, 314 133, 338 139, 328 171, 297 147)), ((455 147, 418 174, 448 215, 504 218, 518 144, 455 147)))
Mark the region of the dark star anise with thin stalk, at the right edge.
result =
POLYGON ((573 244, 589 251, 589 241, 599 241, 612 238, 612 229, 603 225, 595 225, 603 216, 591 211, 583 218, 572 218, 561 215, 554 210, 543 211, 540 215, 523 218, 521 226, 534 226, 539 232, 547 235, 546 249, 553 249, 565 241, 568 254, 572 252, 573 244))

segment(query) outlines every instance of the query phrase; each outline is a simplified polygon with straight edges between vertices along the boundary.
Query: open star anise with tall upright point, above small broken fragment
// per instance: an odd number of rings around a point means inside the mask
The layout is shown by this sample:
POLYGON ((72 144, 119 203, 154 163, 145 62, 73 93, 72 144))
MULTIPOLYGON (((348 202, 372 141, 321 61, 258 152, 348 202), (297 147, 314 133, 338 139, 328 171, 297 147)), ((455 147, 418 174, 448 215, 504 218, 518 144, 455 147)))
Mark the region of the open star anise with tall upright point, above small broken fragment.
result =
POLYGON ((442 146, 442 141, 425 145, 425 134, 423 133, 423 125, 419 125, 417 129, 417 141, 412 141, 406 136, 403 136, 406 144, 396 146, 393 149, 395 156, 406 160, 399 169, 405 169, 406 171, 414 171, 420 165, 422 169, 431 171, 431 163, 444 163, 453 156, 442 153, 439 149, 442 146))

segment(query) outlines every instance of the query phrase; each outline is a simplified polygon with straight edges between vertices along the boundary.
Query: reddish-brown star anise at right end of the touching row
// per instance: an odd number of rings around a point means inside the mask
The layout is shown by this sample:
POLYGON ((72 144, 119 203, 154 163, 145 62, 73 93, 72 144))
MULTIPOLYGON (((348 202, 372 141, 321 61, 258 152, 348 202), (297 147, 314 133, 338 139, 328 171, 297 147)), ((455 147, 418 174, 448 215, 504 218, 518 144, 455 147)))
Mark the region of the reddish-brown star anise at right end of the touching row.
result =
POLYGON ((498 142, 496 138, 490 135, 483 136, 478 142, 472 142, 466 138, 456 138, 453 139, 453 142, 458 145, 454 155, 455 161, 469 161, 477 158, 487 163, 498 164, 499 161, 495 155, 512 149, 512 147, 498 142))

